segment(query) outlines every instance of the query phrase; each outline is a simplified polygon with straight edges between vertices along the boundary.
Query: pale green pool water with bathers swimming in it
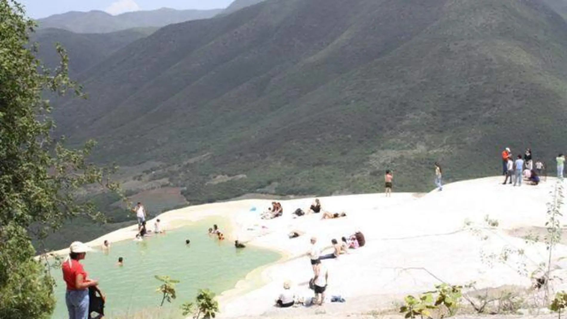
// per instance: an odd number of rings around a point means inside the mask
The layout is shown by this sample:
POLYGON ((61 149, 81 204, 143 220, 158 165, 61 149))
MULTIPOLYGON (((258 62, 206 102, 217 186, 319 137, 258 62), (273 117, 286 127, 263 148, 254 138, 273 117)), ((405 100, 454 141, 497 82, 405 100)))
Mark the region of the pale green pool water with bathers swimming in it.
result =
MULTIPOLYGON (((161 297, 155 290, 160 282, 154 275, 180 280, 176 284, 177 299, 164 306, 178 308, 193 300, 199 288, 209 288, 218 295, 233 288, 253 269, 280 258, 278 253, 253 247, 236 250, 234 242, 209 237, 207 229, 212 224, 222 225, 222 221, 200 221, 164 235, 146 237, 143 242, 117 242, 108 254, 88 253, 82 263, 88 276, 99 280, 99 287, 107 296, 107 316, 158 307, 161 297), (191 240, 190 245, 185 245, 186 239, 191 240), (116 266, 119 257, 124 258, 123 267, 116 266)), ((66 319, 65 283, 60 270, 56 271, 57 306, 52 318, 66 319)))

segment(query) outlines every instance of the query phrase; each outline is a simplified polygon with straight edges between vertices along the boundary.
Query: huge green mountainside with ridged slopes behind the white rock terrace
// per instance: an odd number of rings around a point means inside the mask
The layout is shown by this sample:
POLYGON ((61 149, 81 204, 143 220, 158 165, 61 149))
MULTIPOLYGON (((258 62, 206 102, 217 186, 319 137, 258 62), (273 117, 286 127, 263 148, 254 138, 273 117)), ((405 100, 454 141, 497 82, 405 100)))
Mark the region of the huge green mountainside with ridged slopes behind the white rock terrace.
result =
POLYGON ((567 135, 567 23, 539 0, 269 0, 160 28, 54 116, 191 203, 433 188, 567 135))

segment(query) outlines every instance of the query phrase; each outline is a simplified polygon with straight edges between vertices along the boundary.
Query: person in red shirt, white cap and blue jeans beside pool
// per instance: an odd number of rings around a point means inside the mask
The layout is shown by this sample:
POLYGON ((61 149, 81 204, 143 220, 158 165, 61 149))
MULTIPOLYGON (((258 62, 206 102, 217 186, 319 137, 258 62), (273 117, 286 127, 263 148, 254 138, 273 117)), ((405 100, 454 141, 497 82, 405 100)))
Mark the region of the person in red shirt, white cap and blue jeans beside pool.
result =
POLYGON ((69 257, 65 259, 61 269, 67 285, 65 303, 69 311, 69 319, 87 319, 89 316, 88 288, 98 285, 97 280, 87 279, 87 272, 79 262, 84 259, 91 247, 80 241, 75 241, 69 247, 69 257))

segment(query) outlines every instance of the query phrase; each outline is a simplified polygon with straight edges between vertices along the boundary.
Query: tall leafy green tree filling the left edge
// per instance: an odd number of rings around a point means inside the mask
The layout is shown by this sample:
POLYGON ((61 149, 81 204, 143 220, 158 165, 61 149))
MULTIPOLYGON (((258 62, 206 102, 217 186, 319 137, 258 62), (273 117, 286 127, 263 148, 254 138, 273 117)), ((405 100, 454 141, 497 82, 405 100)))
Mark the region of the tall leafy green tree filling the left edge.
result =
POLYGON ((80 187, 118 189, 108 179, 113 169, 87 161, 94 142, 71 150, 64 138, 53 138, 44 94, 81 95, 81 87, 67 76, 60 46, 61 64, 54 70, 35 58, 36 48, 28 43, 33 27, 19 3, 0 0, 0 318, 50 317, 54 282, 33 259, 32 236, 43 238, 80 215, 103 219, 94 205, 79 202, 80 187))

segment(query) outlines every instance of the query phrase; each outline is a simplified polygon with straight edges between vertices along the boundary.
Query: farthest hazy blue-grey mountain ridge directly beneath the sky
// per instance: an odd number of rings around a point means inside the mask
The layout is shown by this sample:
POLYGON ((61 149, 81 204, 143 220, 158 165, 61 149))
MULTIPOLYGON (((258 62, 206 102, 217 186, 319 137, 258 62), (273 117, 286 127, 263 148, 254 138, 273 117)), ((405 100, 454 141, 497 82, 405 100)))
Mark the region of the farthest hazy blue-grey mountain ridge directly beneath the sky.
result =
POLYGON ((104 11, 78 12, 48 16, 37 20, 39 28, 58 28, 75 33, 106 33, 138 27, 163 27, 167 24, 189 20, 208 19, 222 9, 214 10, 174 10, 162 8, 151 11, 126 12, 110 15, 104 11))

